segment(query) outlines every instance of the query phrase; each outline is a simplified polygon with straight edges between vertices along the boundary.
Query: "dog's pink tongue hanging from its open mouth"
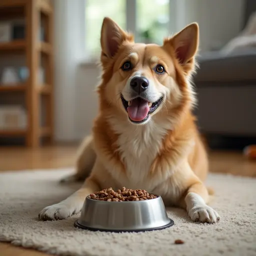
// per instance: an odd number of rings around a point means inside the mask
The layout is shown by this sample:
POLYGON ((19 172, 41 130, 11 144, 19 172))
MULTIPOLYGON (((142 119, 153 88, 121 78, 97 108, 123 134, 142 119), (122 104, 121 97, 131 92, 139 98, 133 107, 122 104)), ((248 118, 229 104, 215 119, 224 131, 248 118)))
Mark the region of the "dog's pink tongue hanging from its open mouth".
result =
POLYGON ((127 107, 127 112, 131 120, 143 120, 149 111, 148 101, 142 98, 132 99, 130 105, 127 107))

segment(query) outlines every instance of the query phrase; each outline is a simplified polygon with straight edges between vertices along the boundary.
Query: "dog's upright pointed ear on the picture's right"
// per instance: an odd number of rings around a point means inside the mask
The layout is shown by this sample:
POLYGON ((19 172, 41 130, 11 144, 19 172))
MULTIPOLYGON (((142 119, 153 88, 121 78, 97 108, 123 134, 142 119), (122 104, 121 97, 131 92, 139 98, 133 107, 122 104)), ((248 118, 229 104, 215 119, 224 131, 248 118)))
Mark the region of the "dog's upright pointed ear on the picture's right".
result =
POLYGON ((196 22, 189 24, 173 37, 166 39, 164 44, 171 44, 175 56, 181 65, 189 62, 197 52, 199 27, 196 22))

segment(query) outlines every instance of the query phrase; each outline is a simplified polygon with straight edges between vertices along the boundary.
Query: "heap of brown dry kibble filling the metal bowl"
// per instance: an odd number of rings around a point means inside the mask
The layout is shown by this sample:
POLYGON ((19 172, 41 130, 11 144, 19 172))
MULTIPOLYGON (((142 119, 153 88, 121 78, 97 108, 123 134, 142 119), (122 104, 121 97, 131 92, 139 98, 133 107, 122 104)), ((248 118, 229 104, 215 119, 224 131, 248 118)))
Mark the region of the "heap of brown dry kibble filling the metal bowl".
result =
POLYGON ((117 191, 114 191, 112 187, 102 189, 98 192, 94 192, 88 196, 94 200, 101 201, 141 201, 156 198, 155 195, 149 194, 146 190, 141 189, 128 189, 124 186, 117 191))

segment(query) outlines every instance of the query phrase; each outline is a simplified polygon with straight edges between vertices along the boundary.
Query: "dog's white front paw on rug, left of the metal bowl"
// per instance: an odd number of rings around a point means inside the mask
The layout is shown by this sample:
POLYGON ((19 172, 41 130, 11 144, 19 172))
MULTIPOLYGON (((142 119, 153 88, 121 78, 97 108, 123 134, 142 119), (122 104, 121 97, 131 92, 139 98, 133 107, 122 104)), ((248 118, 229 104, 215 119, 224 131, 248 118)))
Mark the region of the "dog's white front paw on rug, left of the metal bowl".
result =
POLYGON ((38 214, 38 218, 41 220, 65 219, 78 212, 79 210, 76 210, 72 205, 59 202, 43 208, 38 214))

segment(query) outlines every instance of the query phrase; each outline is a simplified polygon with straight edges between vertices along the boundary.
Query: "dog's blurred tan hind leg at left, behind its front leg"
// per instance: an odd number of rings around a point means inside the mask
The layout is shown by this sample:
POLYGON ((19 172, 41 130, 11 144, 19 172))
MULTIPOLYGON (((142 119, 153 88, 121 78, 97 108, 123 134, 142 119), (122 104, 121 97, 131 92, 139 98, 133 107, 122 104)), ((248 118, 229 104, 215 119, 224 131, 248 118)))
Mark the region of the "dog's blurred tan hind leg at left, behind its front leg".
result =
POLYGON ((89 176, 96 159, 92 143, 92 136, 84 138, 77 151, 75 173, 62 178, 60 182, 83 181, 89 176))

